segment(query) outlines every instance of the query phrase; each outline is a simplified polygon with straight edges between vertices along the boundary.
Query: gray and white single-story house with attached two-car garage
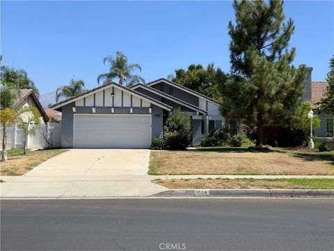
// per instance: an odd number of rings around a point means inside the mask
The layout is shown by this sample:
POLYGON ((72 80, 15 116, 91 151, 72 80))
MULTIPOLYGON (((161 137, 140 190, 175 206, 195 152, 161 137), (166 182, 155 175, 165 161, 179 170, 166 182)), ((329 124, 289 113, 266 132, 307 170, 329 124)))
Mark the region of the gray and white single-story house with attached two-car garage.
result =
POLYGON ((192 144, 221 128, 219 103, 167 79, 131 88, 109 82, 53 105, 62 112, 63 148, 149 148, 164 135, 170 112, 180 107, 191 116, 192 144))

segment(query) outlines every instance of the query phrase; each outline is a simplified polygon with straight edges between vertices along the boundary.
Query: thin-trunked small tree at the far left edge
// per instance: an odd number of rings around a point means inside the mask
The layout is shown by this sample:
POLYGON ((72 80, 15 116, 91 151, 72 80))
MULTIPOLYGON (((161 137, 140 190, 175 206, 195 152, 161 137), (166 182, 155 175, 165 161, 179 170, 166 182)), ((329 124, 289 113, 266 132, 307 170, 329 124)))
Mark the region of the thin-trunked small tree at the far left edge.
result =
POLYGON ((13 109, 5 108, 0 111, 0 123, 2 124, 2 156, 1 161, 7 161, 7 128, 10 123, 15 123, 17 120, 17 114, 13 109))

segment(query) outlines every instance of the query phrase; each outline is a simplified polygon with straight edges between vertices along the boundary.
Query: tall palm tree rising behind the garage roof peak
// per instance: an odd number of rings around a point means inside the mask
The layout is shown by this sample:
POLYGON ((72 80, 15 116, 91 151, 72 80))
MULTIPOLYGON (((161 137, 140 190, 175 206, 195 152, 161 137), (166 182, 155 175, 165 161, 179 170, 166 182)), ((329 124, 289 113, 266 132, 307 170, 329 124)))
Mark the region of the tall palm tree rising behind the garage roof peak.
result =
POLYGON ((106 56, 103 59, 103 63, 109 62, 111 64, 109 73, 100 74, 97 77, 97 83, 100 84, 100 80, 104 80, 104 83, 111 81, 112 79, 118 77, 119 84, 123 85, 123 82, 127 83, 127 86, 132 86, 132 84, 143 82, 145 84, 145 79, 139 75, 132 75, 134 70, 141 71, 141 66, 138 63, 128 64, 127 56, 122 52, 116 52, 116 59, 112 56, 106 56))

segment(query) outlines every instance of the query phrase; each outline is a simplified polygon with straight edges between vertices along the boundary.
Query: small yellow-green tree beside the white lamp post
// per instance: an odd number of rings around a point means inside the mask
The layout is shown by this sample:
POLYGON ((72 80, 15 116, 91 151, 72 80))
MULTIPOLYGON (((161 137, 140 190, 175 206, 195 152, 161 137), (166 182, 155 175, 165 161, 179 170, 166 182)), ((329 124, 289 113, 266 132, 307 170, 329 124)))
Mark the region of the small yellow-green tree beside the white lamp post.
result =
MULTIPOLYGON (((305 139, 310 133, 310 119, 308 119, 308 112, 310 112, 311 103, 310 102, 301 102, 299 107, 295 110, 294 114, 296 115, 295 119, 292 121, 292 128, 296 130, 303 130, 305 139)), ((313 116, 312 128, 317 129, 320 127, 320 119, 317 115, 313 116)))

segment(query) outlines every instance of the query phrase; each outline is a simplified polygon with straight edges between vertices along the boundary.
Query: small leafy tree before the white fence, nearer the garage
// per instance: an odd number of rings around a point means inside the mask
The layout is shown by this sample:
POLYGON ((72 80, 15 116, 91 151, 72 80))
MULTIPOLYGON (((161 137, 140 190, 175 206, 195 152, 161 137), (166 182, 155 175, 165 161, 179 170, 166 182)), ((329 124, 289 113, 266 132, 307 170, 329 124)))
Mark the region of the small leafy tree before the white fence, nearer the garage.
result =
POLYGON ((36 107, 22 107, 17 113, 17 121, 24 134, 23 153, 26 154, 28 137, 36 134, 36 129, 31 124, 40 125, 40 112, 36 107))

